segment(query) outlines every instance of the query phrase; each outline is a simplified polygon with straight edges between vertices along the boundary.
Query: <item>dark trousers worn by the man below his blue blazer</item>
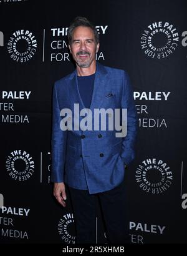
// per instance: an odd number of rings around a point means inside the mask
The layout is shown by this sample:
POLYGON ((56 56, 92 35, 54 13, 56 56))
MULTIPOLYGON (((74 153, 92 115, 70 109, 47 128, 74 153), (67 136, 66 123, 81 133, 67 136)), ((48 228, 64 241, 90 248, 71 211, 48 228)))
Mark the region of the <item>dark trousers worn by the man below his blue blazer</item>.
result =
POLYGON ((97 197, 102 208, 108 243, 125 244, 129 242, 124 182, 112 190, 92 195, 88 190, 72 188, 69 190, 74 210, 77 244, 96 243, 97 197))

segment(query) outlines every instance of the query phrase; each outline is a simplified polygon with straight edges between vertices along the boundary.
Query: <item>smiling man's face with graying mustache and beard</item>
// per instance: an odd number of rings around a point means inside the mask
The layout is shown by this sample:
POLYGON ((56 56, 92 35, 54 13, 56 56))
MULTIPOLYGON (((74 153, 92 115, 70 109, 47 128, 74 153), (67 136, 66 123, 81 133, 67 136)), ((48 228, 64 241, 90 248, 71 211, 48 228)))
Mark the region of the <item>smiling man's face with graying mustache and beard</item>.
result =
POLYGON ((79 67, 90 67, 95 60, 98 47, 99 44, 96 44, 90 27, 79 26, 74 29, 69 49, 79 67))

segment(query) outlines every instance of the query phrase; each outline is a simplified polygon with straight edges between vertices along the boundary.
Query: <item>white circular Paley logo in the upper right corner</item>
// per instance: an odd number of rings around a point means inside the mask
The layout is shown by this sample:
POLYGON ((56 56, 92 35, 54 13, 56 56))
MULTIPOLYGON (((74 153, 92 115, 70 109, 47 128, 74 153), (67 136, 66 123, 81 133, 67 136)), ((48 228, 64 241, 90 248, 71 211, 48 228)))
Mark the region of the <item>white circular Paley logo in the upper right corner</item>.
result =
POLYGON ((178 46, 179 34, 169 22, 153 22, 141 34, 141 49, 152 59, 170 56, 178 46))

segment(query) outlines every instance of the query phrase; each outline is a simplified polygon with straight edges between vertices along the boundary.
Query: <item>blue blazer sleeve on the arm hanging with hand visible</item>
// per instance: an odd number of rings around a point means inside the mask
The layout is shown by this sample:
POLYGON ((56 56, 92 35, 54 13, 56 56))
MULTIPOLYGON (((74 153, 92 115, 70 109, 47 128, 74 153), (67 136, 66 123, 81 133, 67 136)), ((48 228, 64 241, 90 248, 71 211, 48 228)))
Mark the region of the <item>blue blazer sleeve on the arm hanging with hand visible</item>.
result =
POLYGON ((60 129, 60 107, 57 98, 57 84, 54 84, 52 93, 52 139, 51 139, 51 182, 64 182, 65 150, 68 130, 60 129))

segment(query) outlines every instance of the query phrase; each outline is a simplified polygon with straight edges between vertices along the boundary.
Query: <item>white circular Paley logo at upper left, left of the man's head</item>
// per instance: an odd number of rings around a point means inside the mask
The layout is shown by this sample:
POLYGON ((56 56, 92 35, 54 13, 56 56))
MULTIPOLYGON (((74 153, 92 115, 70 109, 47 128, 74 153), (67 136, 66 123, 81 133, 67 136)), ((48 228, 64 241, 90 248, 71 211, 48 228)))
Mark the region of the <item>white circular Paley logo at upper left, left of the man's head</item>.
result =
POLYGON ((28 30, 17 30, 9 38, 7 50, 16 62, 29 61, 36 53, 37 41, 32 32, 28 30))

